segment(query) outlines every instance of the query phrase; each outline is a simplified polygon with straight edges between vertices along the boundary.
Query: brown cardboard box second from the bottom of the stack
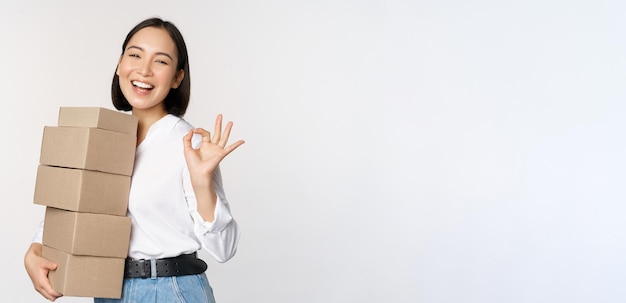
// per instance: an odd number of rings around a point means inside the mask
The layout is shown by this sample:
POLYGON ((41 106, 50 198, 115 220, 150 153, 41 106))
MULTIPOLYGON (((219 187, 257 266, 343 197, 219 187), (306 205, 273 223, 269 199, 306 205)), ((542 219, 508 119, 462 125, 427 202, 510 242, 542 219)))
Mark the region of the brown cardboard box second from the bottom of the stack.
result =
POLYGON ((47 207, 43 244, 72 255, 126 258, 130 220, 47 207))

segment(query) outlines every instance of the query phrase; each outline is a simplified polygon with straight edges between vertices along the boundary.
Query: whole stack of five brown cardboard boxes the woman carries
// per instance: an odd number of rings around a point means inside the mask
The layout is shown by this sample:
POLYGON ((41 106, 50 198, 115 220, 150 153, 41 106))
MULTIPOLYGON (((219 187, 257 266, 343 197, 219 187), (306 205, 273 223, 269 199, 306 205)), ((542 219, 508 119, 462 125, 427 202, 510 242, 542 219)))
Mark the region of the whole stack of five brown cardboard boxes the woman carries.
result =
POLYGON ((61 107, 44 128, 34 203, 46 206, 43 256, 65 296, 121 296, 136 142, 136 117, 99 107, 61 107))

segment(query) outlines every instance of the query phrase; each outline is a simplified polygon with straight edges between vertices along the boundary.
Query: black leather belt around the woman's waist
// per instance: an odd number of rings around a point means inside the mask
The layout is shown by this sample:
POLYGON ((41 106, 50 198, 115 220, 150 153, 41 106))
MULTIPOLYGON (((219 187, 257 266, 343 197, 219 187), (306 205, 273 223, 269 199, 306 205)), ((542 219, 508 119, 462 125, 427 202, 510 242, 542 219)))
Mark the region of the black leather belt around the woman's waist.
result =
POLYGON ((150 278, 197 275, 205 272, 207 264, 196 253, 163 259, 126 259, 124 278, 150 278), (156 268, 152 268, 152 264, 156 268))

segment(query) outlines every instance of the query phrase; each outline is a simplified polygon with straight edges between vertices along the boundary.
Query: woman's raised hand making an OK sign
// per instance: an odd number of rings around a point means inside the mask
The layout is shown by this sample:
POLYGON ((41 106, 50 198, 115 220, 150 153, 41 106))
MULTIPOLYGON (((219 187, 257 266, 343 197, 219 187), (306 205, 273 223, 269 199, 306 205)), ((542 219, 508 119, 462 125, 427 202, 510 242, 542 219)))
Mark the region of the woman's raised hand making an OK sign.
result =
POLYGON ((243 140, 239 140, 231 145, 226 145, 232 127, 233 122, 228 122, 222 133, 222 115, 219 114, 215 120, 213 135, 202 128, 193 129, 185 135, 183 138, 185 159, 187 160, 187 167, 189 168, 192 182, 195 176, 205 176, 210 179, 211 174, 222 159, 244 143, 243 140), (202 136, 202 144, 198 149, 194 149, 191 145, 193 134, 202 136))

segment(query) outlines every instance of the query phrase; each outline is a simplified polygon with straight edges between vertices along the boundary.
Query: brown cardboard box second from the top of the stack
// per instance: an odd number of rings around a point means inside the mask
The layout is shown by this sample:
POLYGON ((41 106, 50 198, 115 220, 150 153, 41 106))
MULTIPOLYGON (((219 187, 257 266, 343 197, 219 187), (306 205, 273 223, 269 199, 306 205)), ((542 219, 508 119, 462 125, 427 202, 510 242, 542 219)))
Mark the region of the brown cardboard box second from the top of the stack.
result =
POLYGON ((86 127, 44 127, 43 165, 132 175, 136 135, 86 127))

